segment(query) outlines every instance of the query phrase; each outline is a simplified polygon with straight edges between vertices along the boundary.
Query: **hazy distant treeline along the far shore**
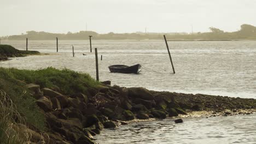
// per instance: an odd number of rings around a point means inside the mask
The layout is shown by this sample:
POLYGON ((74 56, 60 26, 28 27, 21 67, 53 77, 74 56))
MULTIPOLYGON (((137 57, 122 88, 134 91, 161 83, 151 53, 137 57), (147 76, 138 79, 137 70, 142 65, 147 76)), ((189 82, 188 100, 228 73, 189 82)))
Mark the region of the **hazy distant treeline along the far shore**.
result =
POLYGON ((256 27, 252 25, 241 25, 241 29, 236 32, 224 32, 218 28, 210 27, 211 32, 206 33, 107 33, 98 34, 92 31, 80 31, 78 33, 68 32, 67 34, 56 34, 47 32, 28 31, 26 34, 11 35, 6 37, 9 40, 54 40, 58 37, 61 40, 84 40, 89 39, 89 35, 93 39, 98 40, 145 40, 145 39, 163 39, 165 34, 168 40, 256 40, 256 27))

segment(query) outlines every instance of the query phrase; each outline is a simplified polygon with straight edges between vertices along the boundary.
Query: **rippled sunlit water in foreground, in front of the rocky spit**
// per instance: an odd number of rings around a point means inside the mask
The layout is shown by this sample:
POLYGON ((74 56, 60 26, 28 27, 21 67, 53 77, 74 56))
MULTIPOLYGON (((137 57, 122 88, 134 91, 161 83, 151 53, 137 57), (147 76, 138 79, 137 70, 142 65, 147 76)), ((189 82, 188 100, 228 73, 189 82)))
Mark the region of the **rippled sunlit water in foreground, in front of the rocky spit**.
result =
POLYGON ((255 143, 256 115, 138 122, 104 129, 97 143, 255 143))

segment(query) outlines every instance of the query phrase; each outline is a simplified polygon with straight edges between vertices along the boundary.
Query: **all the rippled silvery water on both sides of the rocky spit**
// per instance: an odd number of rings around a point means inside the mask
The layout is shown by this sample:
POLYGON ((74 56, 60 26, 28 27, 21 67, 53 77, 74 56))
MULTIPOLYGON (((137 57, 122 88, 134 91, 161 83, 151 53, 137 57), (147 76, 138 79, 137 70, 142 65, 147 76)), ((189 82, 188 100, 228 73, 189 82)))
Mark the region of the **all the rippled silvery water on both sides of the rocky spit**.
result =
MULTIPOLYGON (((2 40, 25 50, 26 41, 2 40)), ((256 98, 256 41, 169 41, 176 74, 172 73, 164 41, 93 40, 98 48, 100 80, 112 85, 146 87, 156 91, 203 93, 256 98), (141 74, 109 73, 113 64, 141 64, 141 74), (154 72, 158 71, 158 73, 154 72)), ((41 69, 68 68, 95 76, 95 54, 89 43, 59 40, 28 41, 29 50, 50 55, 13 58, 0 67, 41 69), (72 57, 74 45, 75 57, 72 57), (83 56, 85 53, 86 56, 83 56)), ((94 50, 93 50, 94 51, 94 50)), ((256 116, 187 118, 182 124, 172 119, 139 122, 116 130, 103 130, 99 143, 256 143, 256 116)))

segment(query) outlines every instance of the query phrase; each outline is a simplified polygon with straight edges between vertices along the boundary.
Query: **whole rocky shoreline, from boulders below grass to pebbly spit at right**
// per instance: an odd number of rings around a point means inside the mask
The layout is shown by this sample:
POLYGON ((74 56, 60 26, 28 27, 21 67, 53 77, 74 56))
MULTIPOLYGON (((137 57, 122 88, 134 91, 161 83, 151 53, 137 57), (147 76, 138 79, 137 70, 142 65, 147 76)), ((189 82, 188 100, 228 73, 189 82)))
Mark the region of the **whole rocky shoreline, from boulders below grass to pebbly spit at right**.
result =
POLYGON ((255 112, 256 107, 256 99, 156 92, 103 83, 89 88, 88 93, 73 95, 63 95, 57 88, 40 88, 32 83, 26 86, 37 99, 47 123, 46 131, 26 127, 34 143, 95 143, 93 136, 100 134, 103 128, 115 128, 136 122, 135 119, 189 117, 196 112, 211 113, 201 116, 249 114, 255 112))

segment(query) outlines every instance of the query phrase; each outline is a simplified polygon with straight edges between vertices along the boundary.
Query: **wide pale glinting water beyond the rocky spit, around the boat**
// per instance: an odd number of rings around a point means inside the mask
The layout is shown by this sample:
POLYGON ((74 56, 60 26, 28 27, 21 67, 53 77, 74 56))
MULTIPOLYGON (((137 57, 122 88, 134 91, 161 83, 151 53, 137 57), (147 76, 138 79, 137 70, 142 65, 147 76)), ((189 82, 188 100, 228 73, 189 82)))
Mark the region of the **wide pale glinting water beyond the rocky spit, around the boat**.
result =
MULTIPOLYGON (((20 50, 26 46, 25 41, 21 40, 2 43, 20 50)), ((98 48, 99 57, 103 56, 103 61, 99 62, 100 80, 110 80, 113 85, 146 87, 156 91, 256 98, 256 41, 169 41, 168 44, 176 70, 174 75, 171 74, 172 67, 164 41, 93 40, 92 46, 98 48), (109 73, 109 65, 137 63, 142 65, 139 75, 109 73)), ((20 69, 68 68, 96 77, 95 54, 90 53, 87 40, 59 40, 58 53, 54 40, 31 40, 28 49, 50 55, 12 58, 11 61, 1 62, 0 66, 20 69), (72 57, 72 45, 75 57, 72 57)))

